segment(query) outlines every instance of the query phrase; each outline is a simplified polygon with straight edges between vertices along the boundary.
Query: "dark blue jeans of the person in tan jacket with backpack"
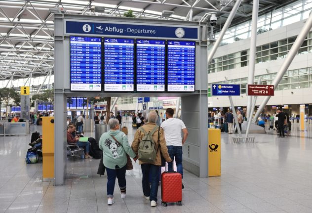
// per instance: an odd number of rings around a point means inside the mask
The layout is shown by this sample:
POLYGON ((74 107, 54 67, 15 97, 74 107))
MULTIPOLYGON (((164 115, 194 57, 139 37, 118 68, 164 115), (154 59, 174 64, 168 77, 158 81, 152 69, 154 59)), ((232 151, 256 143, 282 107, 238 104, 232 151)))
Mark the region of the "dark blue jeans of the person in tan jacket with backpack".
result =
POLYGON ((150 196, 150 201, 157 202, 158 182, 159 182, 159 168, 154 164, 141 164, 142 169, 142 188, 143 194, 150 196), (151 186, 149 176, 151 174, 151 186))

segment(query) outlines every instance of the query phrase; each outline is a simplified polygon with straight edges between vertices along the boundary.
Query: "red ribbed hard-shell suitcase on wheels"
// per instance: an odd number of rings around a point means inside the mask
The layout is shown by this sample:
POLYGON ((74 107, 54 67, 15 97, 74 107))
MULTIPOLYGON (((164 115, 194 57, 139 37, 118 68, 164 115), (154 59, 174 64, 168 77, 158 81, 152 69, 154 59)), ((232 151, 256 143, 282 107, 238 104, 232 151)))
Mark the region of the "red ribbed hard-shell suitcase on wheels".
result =
POLYGON ((182 175, 176 171, 164 171, 161 174, 161 205, 167 203, 182 205, 182 175))

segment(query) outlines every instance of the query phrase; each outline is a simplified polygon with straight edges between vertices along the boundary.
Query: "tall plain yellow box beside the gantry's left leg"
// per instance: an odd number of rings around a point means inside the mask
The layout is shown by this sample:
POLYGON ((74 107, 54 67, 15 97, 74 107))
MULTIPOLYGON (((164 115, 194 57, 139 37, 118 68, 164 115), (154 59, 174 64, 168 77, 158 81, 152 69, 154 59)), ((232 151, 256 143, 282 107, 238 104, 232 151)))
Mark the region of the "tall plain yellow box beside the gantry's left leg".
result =
POLYGON ((42 177, 54 179, 54 117, 42 117, 42 177))

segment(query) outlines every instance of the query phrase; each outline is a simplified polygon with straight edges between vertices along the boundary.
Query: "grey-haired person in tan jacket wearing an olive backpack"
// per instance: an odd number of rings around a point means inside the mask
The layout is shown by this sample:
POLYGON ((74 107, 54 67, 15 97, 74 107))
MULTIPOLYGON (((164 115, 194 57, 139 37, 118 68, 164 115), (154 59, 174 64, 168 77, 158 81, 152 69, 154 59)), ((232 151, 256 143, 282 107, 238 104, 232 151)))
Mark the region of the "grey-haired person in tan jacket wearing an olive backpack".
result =
POLYGON ((132 142, 133 151, 139 156, 139 163, 142 169, 142 188, 143 197, 151 201, 151 207, 157 205, 157 191, 159 182, 159 167, 161 166, 161 157, 167 162, 171 162, 168 154, 167 144, 164 138, 164 131, 156 125, 157 114, 150 112, 148 123, 138 128, 135 132, 132 142), (151 170, 151 186, 149 175, 151 170))

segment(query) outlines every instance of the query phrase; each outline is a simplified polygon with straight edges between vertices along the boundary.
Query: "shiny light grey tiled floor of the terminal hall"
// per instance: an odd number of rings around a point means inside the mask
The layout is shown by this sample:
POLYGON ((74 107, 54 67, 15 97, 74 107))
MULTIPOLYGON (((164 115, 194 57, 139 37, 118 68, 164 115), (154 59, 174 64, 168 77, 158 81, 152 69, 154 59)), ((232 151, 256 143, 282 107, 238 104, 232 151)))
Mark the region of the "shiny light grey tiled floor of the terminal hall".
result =
POLYGON ((96 173, 99 160, 69 157, 65 185, 54 186, 42 182, 41 164, 25 163, 30 135, 0 136, 0 212, 312 213, 312 139, 253 136, 255 143, 234 144, 232 135, 222 133, 222 176, 198 178, 185 171, 182 206, 159 205, 159 189, 156 208, 142 198, 138 164, 126 172, 127 197, 120 198, 116 185, 116 203, 108 206, 107 176, 96 173))

